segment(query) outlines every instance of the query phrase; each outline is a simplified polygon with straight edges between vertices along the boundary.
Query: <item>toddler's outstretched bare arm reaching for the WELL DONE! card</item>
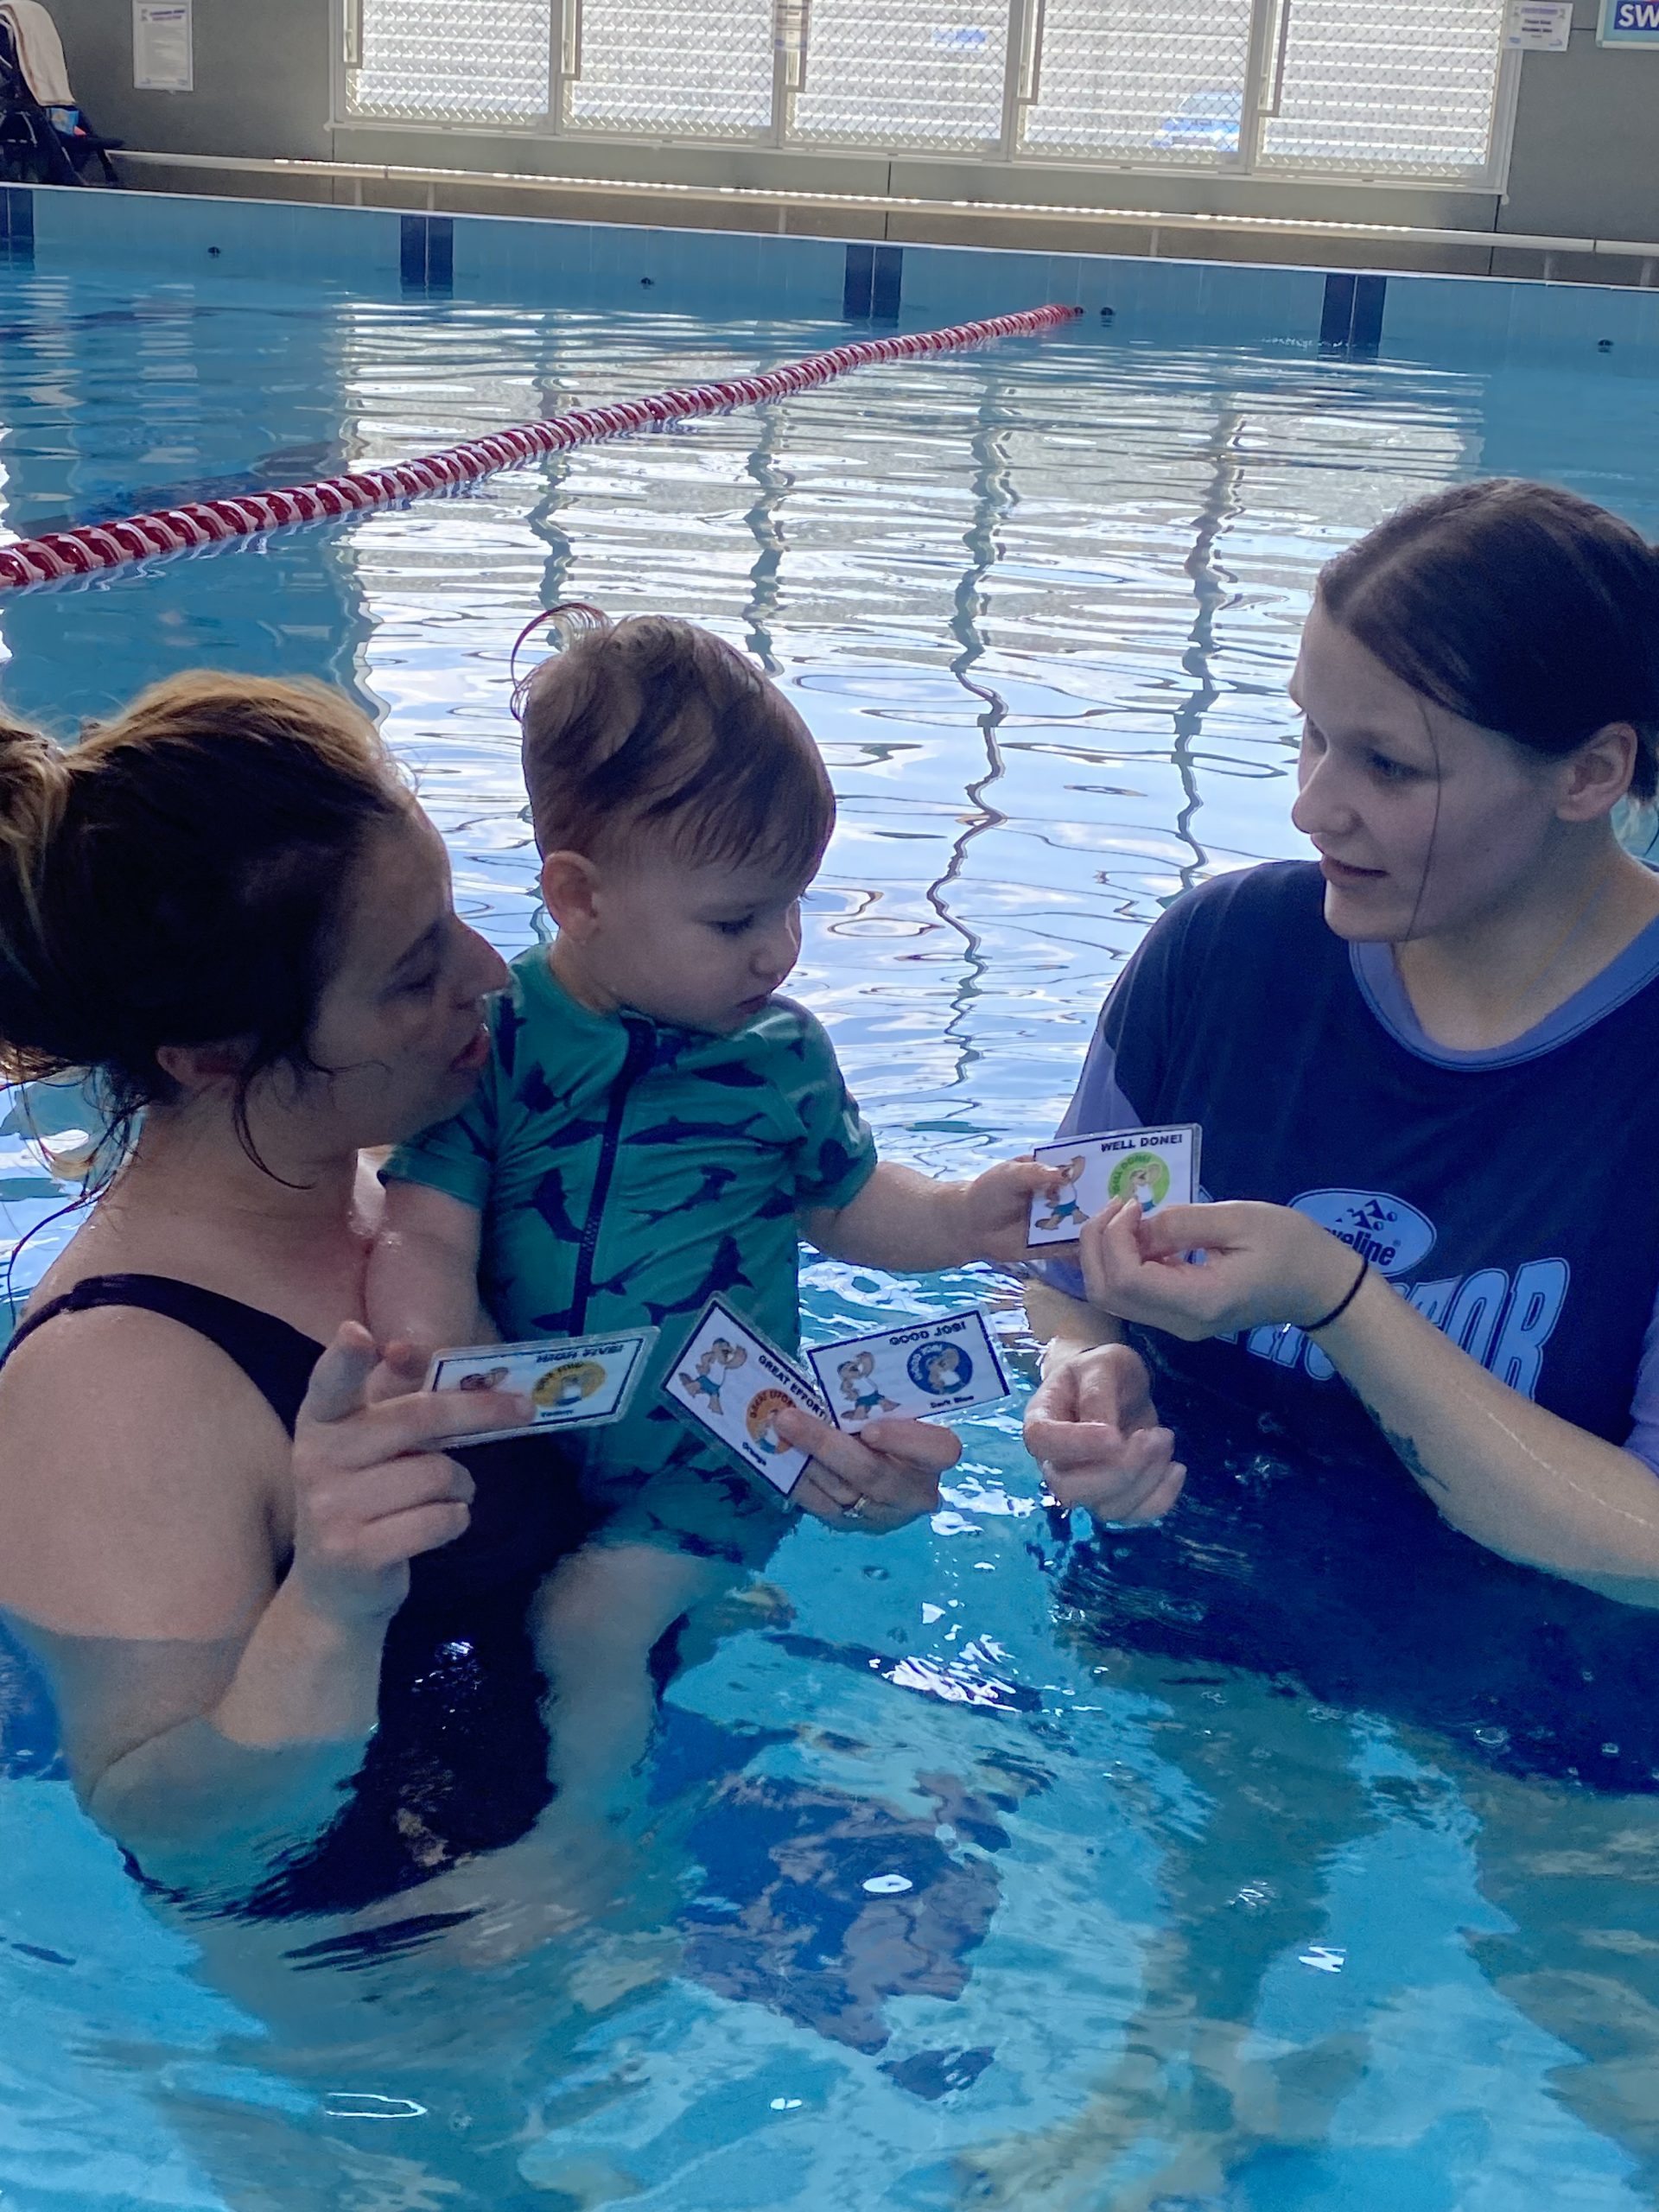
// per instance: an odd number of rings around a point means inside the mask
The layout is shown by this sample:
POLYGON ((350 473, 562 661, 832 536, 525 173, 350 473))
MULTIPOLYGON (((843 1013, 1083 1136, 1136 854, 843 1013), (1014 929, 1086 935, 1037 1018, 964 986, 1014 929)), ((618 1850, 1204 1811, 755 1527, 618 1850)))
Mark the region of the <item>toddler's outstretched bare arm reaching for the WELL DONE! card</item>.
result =
POLYGON ((1031 1199, 1060 1188, 1057 1168, 1004 1159, 971 1183, 936 1183, 883 1159, 849 1206, 810 1208, 801 1232, 852 1267, 962 1267, 1026 1256, 1031 1199))

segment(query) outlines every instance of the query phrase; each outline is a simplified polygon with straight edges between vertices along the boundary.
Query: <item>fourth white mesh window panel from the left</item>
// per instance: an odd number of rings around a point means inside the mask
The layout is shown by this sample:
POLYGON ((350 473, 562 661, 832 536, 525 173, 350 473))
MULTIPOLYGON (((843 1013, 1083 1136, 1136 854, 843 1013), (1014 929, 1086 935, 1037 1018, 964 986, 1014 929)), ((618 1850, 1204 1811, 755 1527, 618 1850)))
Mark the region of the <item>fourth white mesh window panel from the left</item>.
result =
POLYGON ((1248 51, 1250 0, 1046 0, 1020 146, 1230 164, 1248 51))

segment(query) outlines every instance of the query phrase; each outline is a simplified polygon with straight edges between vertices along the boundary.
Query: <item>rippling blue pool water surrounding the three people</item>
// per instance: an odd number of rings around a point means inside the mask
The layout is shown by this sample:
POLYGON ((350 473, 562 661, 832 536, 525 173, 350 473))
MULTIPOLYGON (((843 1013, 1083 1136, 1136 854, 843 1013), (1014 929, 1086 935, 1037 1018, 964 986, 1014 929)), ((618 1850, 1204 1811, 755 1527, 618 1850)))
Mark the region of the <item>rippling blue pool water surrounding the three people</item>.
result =
MULTIPOLYGON (((0 272, 0 522, 292 482, 843 336, 0 272)), ((199 664, 343 684, 513 951, 513 635, 553 597, 706 622, 790 686, 841 796, 792 989, 883 1150, 971 1172, 1053 1130, 1168 898, 1303 849, 1283 684, 1334 549, 1480 473, 1659 529, 1659 385, 1593 374, 1093 330, 887 367, 0 597, 0 697, 71 732, 199 664)), ((33 1106, 73 1146, 80 1099, 33 1106)), ((44 1223, 18 1294, 62 1197, 13 1110, 7 1237, 44 1223)), ((807 1327, 971 1296, 1024 1358, 973 1272, 818 1263, 807 1327)), ((1325 1537, 1274 1555, 1250 1500, 1298 1471, 1225 1458, 1113 1617, 1018 1405, 964 1433, 931 1526, 803 1526, 690 1655, 637 1907, 560 1940, 489 1867, 462 1874, 491 1911, 427 1947, 164 1918, 0 1652, 2 2212, 1650 2205, 1646 1624, 1531 1577, 1517 1601, 1473 1551, 1413 1619, 1418 1520, 1367 1498, 1347 1522, 1325 1482, 1325 1537), (1533 1590, 1553 1672, 1528 1672, 1533 1590)))

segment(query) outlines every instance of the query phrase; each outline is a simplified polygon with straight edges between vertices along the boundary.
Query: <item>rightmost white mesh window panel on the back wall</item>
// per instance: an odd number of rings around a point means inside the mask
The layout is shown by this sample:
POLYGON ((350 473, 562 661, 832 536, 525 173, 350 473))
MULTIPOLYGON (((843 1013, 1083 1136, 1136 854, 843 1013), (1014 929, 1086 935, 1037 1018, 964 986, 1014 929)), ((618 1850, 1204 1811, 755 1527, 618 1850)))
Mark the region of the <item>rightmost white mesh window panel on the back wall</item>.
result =
POLYGON ((1281 0, 1274 168, 1473 175, 1491 150, 1502 0, 1281 0))

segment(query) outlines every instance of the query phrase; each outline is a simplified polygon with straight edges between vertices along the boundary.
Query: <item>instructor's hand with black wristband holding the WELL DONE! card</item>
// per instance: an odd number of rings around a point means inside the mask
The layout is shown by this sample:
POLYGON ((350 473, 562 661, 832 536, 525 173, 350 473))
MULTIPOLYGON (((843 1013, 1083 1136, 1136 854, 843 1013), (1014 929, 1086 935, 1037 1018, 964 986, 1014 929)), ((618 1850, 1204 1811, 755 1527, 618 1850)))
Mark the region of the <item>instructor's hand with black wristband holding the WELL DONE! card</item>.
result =
POLYGON ((1139 1206, 1115 1201, 1077 1248, 1088 1303, 1197 1343, 1237 1329, 1307 1327, 1354 1287, 1349 1245, 1290 1206, 1139 1206), (1203 1265, 1186 1254, 1203 1252, 1203 1265))

